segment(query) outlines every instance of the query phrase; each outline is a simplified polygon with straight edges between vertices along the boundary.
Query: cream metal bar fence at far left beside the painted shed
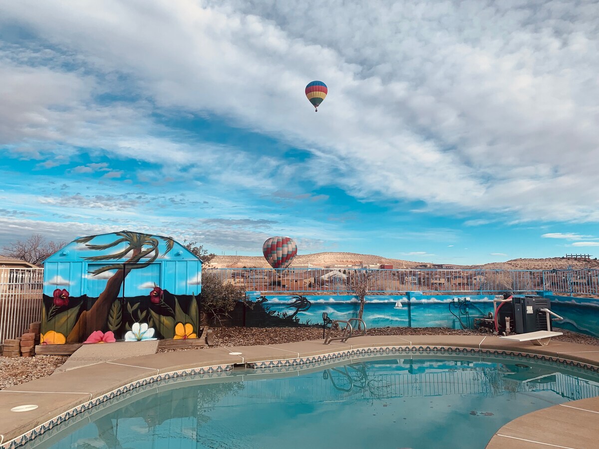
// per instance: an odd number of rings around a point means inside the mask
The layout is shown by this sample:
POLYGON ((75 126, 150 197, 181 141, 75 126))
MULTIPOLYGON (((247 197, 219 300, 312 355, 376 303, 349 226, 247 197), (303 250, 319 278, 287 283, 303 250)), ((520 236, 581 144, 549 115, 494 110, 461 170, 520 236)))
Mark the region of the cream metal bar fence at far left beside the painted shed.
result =
POLYGON ((41 319, 43 268, 0 267, 0 344, 41 319))

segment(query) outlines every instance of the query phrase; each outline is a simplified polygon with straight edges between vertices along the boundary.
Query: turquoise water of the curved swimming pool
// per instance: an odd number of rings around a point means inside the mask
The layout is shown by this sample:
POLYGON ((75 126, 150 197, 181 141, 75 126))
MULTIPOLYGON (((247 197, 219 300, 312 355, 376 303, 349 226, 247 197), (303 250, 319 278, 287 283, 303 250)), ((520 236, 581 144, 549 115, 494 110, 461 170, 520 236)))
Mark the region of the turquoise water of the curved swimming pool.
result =
POLYGON ((599 395, 598 375, 582 369, 458 354, 184 379, 78 415, 26 447, 484 448, 516 417, 599 395))

